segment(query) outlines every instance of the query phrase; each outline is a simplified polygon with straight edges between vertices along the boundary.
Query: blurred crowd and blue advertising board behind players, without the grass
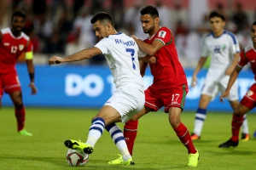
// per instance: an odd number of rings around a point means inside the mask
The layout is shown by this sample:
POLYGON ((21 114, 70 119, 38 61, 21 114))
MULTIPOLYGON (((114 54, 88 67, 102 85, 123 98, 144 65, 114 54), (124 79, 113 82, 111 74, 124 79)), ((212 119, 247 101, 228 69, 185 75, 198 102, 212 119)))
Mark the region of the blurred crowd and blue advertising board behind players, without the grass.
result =
MULTIPOLYGON (((62 57, 73 54, 97 42, 90 18, 98 11, 112 14, 118 31, 145 38, 139 23, 139 10, 145 4, 156 5, 161 26, 170 27, 174 33, 189 87, 193 68, 200 57, 202 38, 209 32, 207 14, 214 9, 227 17, 226 29, 236 33, 241 49, 251 42, 249 26, 256 20, 253 0, 6 0, 1 3, 0 28, 9 26, 15 9, 22 9, 27 14, 24 31, 34 44, 36 96, 31 96, 26 86, 29 78, 23 56, 20 56, 17 70, 24 103, 34 107, 99 108, 113 93, 112 77, 102 55, 67 65, 47 65, 49 57, 53 55, 62 57)), ((199 85, 189 88, 186 111, 197 108, 207 66, 199 74, 199 85)), ((144 82, 145 88, 152 82, 149 71, 144 82)), ((254 82, 249 68, 241 72, 238 82, 241 98, 254 82)), ((3 106, 6 105, 12 105, 8 95, 3 96, 3 106)), ((221 104, 218 99, 209 105, 209 110, 231 111, 227 102, 221 104)))

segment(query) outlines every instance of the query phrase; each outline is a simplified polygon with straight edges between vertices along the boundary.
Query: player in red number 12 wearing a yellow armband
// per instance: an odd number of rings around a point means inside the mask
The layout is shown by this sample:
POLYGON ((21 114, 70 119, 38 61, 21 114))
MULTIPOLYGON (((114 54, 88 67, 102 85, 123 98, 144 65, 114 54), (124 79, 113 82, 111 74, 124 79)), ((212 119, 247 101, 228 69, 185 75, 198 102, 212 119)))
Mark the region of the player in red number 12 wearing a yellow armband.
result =
POLYGON ((34 65, 32 63, 32 42, 21 30, 26 24, 26 14, 16 11, 12 15, 11 28, 0 31, 0 108, 3 91, 9 94, 15 105, 15 116, 18 124, 18 133, 24 136, 32 136, 24 128, 25 109, 22 102, 19 77, 15 70, 15 64, 20 54, 25 53, 26 65, 30 77, 29 87, 32 94, 37 93, 34 85, 34 65))

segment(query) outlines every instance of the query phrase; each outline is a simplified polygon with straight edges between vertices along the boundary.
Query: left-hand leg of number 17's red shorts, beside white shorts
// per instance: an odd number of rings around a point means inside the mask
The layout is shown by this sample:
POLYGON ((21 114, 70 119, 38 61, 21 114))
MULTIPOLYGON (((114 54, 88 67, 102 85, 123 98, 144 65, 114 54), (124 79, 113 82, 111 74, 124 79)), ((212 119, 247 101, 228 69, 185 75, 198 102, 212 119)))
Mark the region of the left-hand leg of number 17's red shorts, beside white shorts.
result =
POLYGON ((150 108, 151 111, 158 111, 164 105, 160 98, 160 92, 161 89, 154 88, 153 86, 145 90, 145 106, 150 108))

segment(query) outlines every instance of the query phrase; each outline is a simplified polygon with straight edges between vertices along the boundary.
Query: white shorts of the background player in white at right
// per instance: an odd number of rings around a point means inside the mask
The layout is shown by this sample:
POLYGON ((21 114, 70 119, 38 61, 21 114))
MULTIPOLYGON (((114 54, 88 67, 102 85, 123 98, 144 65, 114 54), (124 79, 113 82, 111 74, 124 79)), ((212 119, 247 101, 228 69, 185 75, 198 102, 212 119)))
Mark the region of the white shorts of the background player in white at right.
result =
MULTIPOLYGON (((209 96, 212 96, 212 99, 214 99, 218 94, 224 93, 225 89, 228 86, 229 80, 230 76, 225 76, 220 81, 215 81, 212 78, 207 77, 203 87, 201 88, 201 94, 207 94, 209 96)), ((230 89, 230 95, 228 99, 230 101, 235 101, 239 99, 237 81, 230 89)))

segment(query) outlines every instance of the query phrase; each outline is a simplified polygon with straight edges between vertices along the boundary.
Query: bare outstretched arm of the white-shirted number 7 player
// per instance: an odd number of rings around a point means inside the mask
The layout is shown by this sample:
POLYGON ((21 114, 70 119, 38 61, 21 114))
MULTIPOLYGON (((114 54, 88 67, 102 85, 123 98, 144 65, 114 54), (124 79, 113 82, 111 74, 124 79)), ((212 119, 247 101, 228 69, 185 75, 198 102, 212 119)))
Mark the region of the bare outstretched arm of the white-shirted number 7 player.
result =
POLYGON ((61 57, 52 57, 49 59, 49 65, 58 65, 61 63, 66 63, 66 62, 73 62, 73 61, 80 61, 84 59, 90 59, 93 56, 97 54, 102 54, 102 51, 99 48, 88 48, 84 49, 82 51, 79 51, 76 54, 72 54, 66 58, 61 58, 61 57))

